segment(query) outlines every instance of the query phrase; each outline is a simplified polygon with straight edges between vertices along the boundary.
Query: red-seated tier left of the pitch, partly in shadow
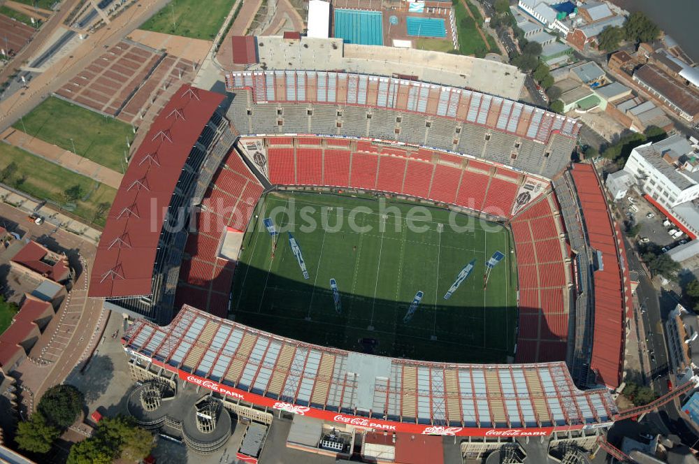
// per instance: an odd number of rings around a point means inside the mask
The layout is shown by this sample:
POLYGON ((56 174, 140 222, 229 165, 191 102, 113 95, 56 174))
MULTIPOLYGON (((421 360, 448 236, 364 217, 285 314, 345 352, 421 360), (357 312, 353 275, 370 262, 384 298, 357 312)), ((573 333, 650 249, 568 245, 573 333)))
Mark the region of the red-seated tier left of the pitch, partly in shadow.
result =
POLYGON ((257 177, 231 150, 201 202, 196 231, 187 238, 175 307, 196 305, 226 317, 236 263, 219 256, 220 242, 228 227, 245 230, 262 191, 257 177))

